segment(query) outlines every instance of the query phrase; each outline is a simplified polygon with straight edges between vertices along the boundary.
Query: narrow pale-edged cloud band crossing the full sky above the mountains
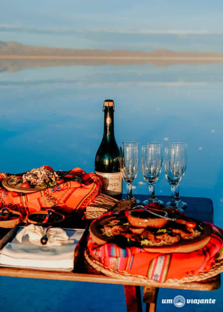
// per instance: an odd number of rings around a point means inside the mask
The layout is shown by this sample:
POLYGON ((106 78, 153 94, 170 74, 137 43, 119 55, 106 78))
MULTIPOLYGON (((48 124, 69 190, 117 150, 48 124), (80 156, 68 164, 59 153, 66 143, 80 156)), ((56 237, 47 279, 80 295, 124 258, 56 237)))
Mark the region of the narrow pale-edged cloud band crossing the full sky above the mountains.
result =
POLYGON ((154 29, 110 29, 110 28, 90 28, 90 29, 71 29, 71 28, 46 28, 46 27, 26 27, 20 25, 0 24, 0 32, 28 32, 36 34, 57 34, 69 35, 78 33, 113 33, 113 34, 142 34, 142 35, 223 35, 223 32, 211 32, 208 30, 154 30, 154 29))

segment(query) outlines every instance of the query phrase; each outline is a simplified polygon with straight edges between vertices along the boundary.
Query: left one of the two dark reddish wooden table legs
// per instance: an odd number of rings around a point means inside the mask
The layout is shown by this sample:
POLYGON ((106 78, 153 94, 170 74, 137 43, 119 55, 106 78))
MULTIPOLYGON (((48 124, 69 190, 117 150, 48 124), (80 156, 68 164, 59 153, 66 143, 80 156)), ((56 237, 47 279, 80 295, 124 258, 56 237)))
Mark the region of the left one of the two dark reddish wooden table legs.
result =
POLYGON ((127 312, 142 312, 140 286, 124 285, 127 312))

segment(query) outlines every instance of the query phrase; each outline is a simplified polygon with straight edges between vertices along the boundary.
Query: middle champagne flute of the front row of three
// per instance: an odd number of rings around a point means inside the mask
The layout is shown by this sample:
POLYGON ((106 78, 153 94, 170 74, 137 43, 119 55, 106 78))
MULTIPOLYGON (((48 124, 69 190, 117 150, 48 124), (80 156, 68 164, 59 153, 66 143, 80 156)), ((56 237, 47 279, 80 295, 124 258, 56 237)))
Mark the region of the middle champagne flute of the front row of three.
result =
POLYGON ((144 206, 153 202, 154 185, 159 178, 162 168, 162 153, 157 144, 142 146, 142 171, 143 178, 149 187, 149 198, 143 202, 144 206))

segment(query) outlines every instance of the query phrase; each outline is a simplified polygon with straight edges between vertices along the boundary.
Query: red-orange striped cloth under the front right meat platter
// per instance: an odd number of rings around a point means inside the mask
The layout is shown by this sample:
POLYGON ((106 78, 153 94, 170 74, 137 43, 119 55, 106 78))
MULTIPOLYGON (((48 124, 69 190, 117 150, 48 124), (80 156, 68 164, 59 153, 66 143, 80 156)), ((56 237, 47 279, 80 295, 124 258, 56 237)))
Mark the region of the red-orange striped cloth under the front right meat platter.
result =
POLYGON ((208 271, 216 260, 223 259, 223 230, 211 223, 208 225, 213 230, 210 241, 202 249, 190 253, 153 253, 139 247, 123 249, 114 243, 99 246, 90 236, 87 248, 90 254, 105 266, 163 283, 168 279, 182 279, 201 271, 208 271))

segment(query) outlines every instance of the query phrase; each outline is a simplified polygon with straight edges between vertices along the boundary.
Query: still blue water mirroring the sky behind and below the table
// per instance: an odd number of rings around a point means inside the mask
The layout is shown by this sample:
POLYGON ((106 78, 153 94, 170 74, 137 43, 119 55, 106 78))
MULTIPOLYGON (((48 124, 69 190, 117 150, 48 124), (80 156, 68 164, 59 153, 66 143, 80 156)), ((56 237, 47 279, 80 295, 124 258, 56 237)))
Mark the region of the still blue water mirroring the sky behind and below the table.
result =
MULTIPOLYGON (((115 137, 188 143, 180 195, 209 197, 223 227, 223 64, 156 67, 70 66, 0 73, 0 171, 19 173, 48 164, 94 171, 103 134, 103 101, 115 103, 115 137)), ((123 184, 125 192, 125 185, 123 184)), ((163 170, 157 195, 169 195, 163 170)), ((141 173, 133 193, 147 194, 141 173)), ((124 311, 123 286, 0 277, 2 311, 124 311), (13 295, 13 300, 12 300, 13 295), (29 298, 29 299, 27 299, 29 298), (114 300, 115 298, 115 300, 114 300)), ((213 298, 191 311, 221 311, 213 292, 169 290, 165 298, 213 298)), ((158 296, 158 311, 163 310, 158 296)), ((177 308, 166 305, 165 311, 177 308), (169 309, 169 310, 168 310, 169 309)), ((186 311, 188 306, 182 307, 186 311)))

